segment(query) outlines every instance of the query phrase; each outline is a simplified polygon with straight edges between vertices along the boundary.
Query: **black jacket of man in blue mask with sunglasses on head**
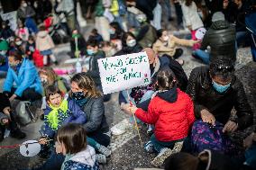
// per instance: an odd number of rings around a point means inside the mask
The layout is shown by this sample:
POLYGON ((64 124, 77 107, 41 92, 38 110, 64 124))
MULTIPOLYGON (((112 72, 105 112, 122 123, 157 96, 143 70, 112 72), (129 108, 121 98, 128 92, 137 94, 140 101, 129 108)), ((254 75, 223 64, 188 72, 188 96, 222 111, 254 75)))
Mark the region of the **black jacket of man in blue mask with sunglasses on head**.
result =
POLYGON ((240 130, 252 124, 251 106, 247 102, 241 81, 233 77, 231 87, 224 94, 215 91, 209 75, 209 67, 196 67, 192 70, 187 85, 187 94, 194 101, 195 114, 200 118, 203 109, 213 113, 215 120, 225 124, 231 115, 231 110, 236 110, 240 130))

